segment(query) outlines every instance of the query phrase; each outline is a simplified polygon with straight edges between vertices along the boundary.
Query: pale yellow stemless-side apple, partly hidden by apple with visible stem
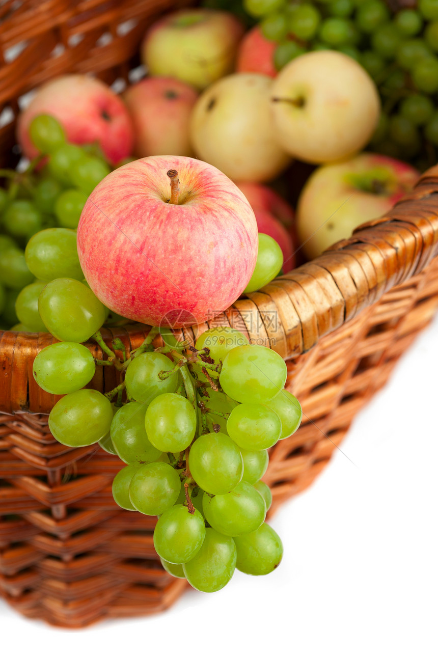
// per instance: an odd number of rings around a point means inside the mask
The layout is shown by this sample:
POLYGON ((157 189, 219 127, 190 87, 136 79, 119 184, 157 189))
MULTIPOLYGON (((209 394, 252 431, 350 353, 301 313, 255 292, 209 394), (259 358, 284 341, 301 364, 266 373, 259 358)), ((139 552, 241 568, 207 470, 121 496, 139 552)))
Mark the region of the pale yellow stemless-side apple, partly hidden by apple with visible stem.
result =
POLYGON ((263 182, 291 158, 274 139, 272 78, 234 73, 205 89, 190 125, 195 153, 232 180, 263 182))

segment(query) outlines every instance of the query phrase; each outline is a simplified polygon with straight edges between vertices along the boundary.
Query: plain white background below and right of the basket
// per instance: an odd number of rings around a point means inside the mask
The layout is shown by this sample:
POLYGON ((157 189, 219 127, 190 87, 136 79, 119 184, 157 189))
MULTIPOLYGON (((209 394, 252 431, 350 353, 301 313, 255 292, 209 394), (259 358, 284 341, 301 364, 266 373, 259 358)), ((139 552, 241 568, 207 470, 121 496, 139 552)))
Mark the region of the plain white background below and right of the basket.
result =
POLYGON ((0 653, 435 657, 437 372, 438 318, 356 417, 343 452, 272 519, 285 546, 274 573, 236 571, 216 594, 190 591, 166 613, 82 631, 23 619, 0 600, 0 653))

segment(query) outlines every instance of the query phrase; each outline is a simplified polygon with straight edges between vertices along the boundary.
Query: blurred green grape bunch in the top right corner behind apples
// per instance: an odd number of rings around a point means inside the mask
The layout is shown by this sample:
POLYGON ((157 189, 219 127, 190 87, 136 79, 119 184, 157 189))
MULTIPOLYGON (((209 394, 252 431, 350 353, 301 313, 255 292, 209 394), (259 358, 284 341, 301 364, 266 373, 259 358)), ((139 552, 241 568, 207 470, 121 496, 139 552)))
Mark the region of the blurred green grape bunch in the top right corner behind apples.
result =
POLYGON ((438 0, 391 13, 383 0, 245 0, 278 70, 312 50, 356 59, 376 82, 383 112, 372 139, 379 153, 422 170, 437 161, 438 0))

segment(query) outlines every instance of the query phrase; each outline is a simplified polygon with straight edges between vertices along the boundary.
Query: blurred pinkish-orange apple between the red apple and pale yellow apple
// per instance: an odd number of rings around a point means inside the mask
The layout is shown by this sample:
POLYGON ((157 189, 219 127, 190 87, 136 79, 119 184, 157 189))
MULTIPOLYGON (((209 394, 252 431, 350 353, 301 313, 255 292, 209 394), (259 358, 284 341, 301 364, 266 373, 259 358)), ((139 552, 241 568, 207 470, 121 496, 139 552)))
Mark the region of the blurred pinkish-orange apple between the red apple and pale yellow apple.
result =
POLYGON ((193 87, 175 78, 145 78, 124 93, 134 123, 134 154, 193 155, 189 118, 198 97, 193 87))

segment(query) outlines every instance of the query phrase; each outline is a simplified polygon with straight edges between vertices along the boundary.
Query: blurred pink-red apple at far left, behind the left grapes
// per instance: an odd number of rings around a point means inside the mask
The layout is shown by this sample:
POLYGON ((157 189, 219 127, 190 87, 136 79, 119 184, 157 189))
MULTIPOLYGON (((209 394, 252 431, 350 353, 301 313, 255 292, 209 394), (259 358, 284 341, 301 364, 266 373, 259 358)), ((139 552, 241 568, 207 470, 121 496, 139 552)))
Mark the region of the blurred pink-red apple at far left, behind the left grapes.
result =
POLYGON ((29 124, 37 114, 51 114, 61 122, 68 141, 74 144, 99 142, 112 164, 132 153, 134 128, 124 103, 101 80, 84 75, 55 78, 37 90, 18 116, 17 139, 24 155, 38 151, 30 141, 29 124))

